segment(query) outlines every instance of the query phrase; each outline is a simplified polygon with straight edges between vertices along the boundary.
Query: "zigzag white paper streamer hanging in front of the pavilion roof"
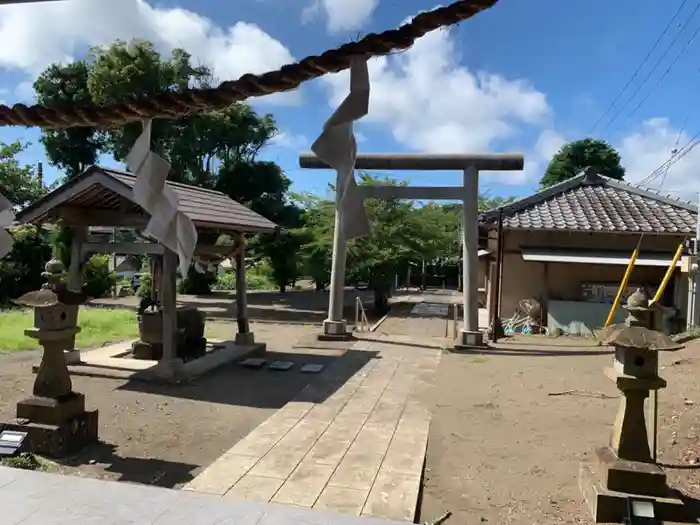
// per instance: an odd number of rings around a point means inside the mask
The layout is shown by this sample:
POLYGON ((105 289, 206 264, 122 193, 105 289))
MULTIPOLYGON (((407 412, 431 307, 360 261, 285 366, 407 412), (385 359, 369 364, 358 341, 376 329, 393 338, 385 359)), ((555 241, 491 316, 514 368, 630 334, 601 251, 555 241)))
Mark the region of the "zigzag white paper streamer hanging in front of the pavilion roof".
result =
POLYGON ((126 165, 136 175, 134 201, 151 216, 145 233, 177 253, 180 274, 186 277, 197 245, 197 230, 179 211, 177 195, 165 184, 170 164, 151 151, 150 120, 127 155, 126 165))

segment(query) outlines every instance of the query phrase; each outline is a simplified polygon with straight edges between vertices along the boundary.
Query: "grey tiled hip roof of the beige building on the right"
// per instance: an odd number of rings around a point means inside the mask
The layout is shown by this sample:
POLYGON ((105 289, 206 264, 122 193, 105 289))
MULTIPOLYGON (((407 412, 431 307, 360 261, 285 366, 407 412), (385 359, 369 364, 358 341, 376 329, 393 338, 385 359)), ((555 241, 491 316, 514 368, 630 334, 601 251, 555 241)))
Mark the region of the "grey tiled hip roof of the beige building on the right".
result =
POLYGON ((509 229, 586 232, 695 232, 697 207, 592 170, 481 215, 509 229))

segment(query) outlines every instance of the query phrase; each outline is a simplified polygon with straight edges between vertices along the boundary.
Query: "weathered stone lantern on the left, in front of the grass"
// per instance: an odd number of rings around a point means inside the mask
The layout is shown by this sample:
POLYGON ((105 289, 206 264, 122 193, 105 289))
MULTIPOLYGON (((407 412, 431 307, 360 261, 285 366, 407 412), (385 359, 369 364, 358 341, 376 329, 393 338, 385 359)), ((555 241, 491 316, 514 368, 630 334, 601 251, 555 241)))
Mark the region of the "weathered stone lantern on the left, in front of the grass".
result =
POLYGON ((62 457, 97 440, 98 414, 86 411, 85 396, 73 391, 64 357, 80 331, 78 308, 85 296, 68 290, 60 261, 49 261, 45 269, 42 289, 16 301, 34 308, 34 327, 25 333, 43 348, 33 395, 17 403, 17 422, 2 427, 26 432, 30 451, 62 457))

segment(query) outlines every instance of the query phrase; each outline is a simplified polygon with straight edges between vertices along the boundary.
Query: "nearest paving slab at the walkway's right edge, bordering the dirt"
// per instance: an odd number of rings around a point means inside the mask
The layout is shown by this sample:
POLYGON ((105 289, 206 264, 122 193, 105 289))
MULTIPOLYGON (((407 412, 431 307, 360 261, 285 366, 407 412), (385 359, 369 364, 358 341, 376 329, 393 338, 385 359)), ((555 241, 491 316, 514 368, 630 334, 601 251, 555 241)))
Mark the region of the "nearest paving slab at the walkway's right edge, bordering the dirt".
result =
POLYGON ((418 475, 380 471, 362 509, 362 515, 413 521, 420 479, 418 475))

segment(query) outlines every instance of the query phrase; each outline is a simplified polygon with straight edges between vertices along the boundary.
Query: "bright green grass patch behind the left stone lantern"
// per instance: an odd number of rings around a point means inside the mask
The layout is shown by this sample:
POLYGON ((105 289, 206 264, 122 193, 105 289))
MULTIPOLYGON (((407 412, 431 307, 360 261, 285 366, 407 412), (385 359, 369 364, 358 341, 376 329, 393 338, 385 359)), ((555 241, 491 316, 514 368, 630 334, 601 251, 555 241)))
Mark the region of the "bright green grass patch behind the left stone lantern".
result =
MULTIPOLYGON (((134 339, 139 330, 136 312, 118 308, 80 308, 78 324, 81 331, 76 345, 79 348, 95 348, 113 341, 134 339)), ((34 313, 31 310, 0 312, 0 352, 39 348, 36 340, 24 335, 24 330, 32 326, 34 313)))

